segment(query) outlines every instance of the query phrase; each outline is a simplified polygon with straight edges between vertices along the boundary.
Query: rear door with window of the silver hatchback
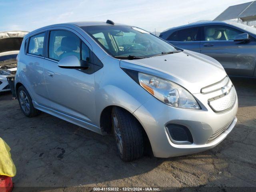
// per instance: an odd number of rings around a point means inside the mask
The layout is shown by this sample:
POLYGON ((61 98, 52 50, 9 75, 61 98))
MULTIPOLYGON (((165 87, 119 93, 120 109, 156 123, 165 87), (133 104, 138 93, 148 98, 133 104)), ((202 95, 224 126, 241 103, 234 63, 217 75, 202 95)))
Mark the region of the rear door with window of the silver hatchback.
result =
POLYGON ((48 106, 48 92, 44 81, 44 47, 45 32, 38 32, 26 39, 24 60, 19 62, 22 68, 21 75, 27 80, 26 89, 32 100, 38 104, 48 106))

